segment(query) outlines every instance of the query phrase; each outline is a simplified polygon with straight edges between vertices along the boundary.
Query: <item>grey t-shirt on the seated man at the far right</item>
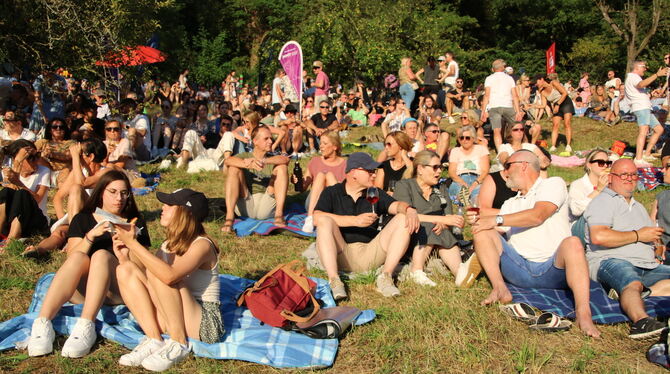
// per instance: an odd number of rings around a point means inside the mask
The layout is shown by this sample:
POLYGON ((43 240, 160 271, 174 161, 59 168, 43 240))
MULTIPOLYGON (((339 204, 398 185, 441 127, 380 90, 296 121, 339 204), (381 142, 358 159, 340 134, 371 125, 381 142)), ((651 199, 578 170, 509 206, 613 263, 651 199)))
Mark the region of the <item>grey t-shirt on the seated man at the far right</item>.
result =
MULTIPOLYGON (((647 210, 642 204, 631 198, 626 199, 605 188, 598 194, 584 212, 587 227, 607 226, 615 231, 633 231, 643 227, 653 226, 647 210)), ((591 279, 598 280, 600 262, 610 258, 626 260, 643 269, 654 269, 658 266, 654 258, 652 243, 629 243, 621 247, 608 248, 591 243, 590 230, 586 230, 586 259, 589 262, 591 279)))

